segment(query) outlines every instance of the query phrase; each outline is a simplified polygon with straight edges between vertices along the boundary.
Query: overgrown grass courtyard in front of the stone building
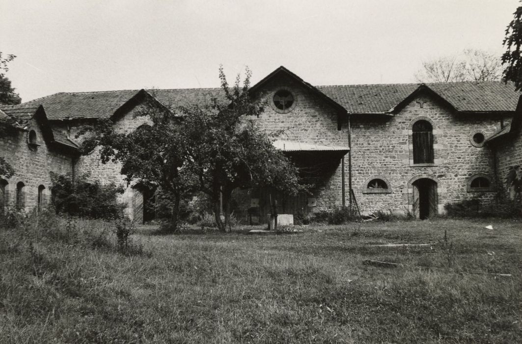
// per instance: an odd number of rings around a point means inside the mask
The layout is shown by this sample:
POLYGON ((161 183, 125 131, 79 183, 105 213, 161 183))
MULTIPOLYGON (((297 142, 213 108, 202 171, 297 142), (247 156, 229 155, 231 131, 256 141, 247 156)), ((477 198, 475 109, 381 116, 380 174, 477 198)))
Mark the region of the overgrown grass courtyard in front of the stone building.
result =
POLYGON ((522 342, 520 221, 140 228, 126 254, 110 226, 0 230, 2 342, 522 342))

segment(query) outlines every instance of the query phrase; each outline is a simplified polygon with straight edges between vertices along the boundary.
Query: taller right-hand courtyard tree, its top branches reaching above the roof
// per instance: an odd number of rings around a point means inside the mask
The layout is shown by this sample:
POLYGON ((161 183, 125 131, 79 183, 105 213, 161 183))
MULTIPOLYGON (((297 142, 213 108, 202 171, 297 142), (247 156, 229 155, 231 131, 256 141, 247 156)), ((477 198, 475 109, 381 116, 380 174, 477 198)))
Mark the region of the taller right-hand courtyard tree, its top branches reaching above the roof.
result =
POLYGON ((234 189, 270 185, 294 194, 305 188, 299 184, 298 170, 291 161, 251 120, 263 112, 265 104, 248 93, 250 77, 251 72, 246 69, 243 86, 238 75, 230 88, 220 67, 219 78, 226 101, 215 99, 210 106, 180 109, 184 115, 181 134, 185 164, 197 177, 197 188, 210 196, 221 231, 230 229, 234 189), (221 203, 224 222, 220 216, 221 203))

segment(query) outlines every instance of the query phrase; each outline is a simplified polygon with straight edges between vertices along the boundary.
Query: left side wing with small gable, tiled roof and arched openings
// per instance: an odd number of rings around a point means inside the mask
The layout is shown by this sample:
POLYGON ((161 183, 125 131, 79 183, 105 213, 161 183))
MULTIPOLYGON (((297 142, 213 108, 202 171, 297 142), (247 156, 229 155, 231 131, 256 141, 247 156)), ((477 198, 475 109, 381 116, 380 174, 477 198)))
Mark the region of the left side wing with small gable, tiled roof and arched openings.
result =
POLYGON ((0 176, 0 213, 7 208, 30 211, 45 206, 52 186, 50 172, 72 174, 78 146, 51 128, 41 105, 1 105, 0 119, 11 119, 0 137, 0 157, 13 167, 8 179, 0 176))

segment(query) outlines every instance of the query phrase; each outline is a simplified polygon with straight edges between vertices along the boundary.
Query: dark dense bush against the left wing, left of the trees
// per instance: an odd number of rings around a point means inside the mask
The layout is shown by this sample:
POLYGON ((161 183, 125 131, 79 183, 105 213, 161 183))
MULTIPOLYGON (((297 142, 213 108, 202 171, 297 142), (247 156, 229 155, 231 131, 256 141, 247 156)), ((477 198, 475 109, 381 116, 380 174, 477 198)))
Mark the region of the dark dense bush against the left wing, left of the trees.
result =
POLYGON ((117 194, 123 193, 122 186, 114 183, 101 185, 87 181, 82 174, 73 181, 70 175, 51 173, 53 182, 52 203, 56 213, 92 219, 118 219, 123 216, 124 205, 118 203, 117 194))

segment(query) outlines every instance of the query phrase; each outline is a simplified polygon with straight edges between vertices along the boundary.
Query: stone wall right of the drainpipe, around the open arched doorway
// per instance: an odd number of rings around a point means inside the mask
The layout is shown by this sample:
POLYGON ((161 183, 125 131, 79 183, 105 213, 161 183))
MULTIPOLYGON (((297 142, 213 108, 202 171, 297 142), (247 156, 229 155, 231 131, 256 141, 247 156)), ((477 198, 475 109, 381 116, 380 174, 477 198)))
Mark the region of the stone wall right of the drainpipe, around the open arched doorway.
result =
MULTIPOLYGON (((419 96, 395 116, 371 119, 352 117, 353 189, 365 212, 412 210, 412 183, 428 177, 437 183, 438 212, 444 205, 469 198, 488 203, 494 192, 469 192, 473 177, 482 175, 494 183, 493 153, 475 147, 472 137, 485 137, 500 127, 500 118, 453 114, 429 96, 419 96), (422 107, 421 107, 422 104, 422 107), (427 120, 433 126, 434 164, 413 164, 412 125, 427 120), (367 192, 367 183, 388 181, 390 193, 367 192)), ((494 188, 492 188, 494 190, 494 188)))

